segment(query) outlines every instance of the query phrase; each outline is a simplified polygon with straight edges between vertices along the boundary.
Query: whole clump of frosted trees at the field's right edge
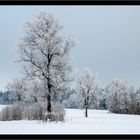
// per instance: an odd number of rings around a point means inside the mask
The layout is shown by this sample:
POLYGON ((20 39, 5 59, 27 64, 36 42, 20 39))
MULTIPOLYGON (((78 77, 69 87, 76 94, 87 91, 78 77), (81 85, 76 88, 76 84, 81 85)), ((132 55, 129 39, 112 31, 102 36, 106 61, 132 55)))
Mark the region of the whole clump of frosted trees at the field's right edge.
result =
POLYGON ((110 112, 140 114, 140 88, 134 90, 126 81, 113 80, 106 87, 106 92, 110 112))

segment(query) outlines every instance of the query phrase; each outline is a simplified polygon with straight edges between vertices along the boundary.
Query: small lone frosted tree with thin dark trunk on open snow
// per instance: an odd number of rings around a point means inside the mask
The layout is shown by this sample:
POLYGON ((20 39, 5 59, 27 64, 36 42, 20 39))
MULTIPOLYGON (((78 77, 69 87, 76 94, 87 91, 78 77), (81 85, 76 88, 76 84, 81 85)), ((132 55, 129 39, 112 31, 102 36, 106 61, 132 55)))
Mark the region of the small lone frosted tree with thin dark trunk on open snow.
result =
POLYGON ((88 117, 88 109, 97 94, 98 86, 90 69, 85 69, 79 75, 76 82, 76 91, 85 109, 85 117, 88 117))

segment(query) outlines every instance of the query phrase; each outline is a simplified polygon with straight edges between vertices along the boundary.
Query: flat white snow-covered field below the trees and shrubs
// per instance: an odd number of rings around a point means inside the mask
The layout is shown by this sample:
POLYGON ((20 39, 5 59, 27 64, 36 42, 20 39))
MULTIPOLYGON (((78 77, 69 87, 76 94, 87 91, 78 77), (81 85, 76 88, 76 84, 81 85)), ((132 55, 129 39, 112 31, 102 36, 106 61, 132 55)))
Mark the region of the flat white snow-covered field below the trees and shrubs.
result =
POLYGON ((66 109, 65 122, 0 121, 0 134, 140 134, 140 115, 66 109))

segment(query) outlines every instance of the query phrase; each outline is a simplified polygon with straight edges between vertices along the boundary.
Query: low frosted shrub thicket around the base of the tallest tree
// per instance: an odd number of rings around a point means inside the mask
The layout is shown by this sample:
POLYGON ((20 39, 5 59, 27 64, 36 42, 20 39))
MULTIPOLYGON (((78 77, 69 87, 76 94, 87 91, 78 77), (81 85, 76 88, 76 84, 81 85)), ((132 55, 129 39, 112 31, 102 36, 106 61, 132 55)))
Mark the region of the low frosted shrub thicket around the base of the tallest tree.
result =
POLYGON ((17 103, 3 108, 2 112, 0 113, 0 120, 11 121, 26 119, 56 122, 64 120, 64 108, 59 102, 53 104, 51 114, 47 113, 46 110, 46 102, 36 102, 28 106, 22 103, 17 103))

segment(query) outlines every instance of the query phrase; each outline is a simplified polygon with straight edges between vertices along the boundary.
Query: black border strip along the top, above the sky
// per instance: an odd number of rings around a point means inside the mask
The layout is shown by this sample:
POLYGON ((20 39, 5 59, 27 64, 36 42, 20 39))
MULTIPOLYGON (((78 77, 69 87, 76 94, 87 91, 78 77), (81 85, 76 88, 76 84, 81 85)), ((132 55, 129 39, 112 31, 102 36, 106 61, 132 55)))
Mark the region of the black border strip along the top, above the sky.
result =
POLYGON ((140 5, 140 0, 0 0, 1 5, 140 5))

